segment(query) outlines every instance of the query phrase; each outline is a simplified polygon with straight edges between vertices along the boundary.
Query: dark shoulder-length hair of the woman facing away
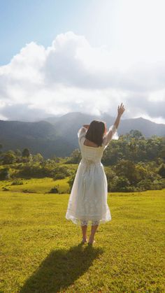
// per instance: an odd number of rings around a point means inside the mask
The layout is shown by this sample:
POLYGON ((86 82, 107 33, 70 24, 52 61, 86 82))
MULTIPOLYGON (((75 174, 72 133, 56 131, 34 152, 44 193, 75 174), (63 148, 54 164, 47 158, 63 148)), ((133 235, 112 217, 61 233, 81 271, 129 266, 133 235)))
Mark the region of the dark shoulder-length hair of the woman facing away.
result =
POLYGON ((87 129, 87 133, 85 134, 85 138, 89 139, 96 145, 101 146, 103 143, 103 134, 106 129, 106 124, 103 121, 93 120, 89 124, 89 128, 87 129))

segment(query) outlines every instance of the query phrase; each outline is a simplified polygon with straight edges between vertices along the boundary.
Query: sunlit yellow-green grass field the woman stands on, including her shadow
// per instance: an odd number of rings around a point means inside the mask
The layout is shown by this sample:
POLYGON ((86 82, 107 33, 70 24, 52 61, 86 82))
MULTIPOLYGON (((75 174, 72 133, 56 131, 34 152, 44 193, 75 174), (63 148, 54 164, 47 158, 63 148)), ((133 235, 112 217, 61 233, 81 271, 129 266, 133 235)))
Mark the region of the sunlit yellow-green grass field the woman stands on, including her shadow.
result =
POLYGON ((0 292, 165 292, 164 190, 108 194, 112 221, 88 247, 65 219, 69 194, 14 187, 0 192, 0 292))

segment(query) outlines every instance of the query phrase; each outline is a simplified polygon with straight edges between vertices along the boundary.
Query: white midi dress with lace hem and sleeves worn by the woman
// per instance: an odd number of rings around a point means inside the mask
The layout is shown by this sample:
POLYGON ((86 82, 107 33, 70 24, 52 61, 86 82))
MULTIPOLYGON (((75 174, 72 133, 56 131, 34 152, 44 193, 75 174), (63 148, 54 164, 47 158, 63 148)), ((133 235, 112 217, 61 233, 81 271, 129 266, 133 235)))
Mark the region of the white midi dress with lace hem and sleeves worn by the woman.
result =
POLYGON ((111 139, 118 139, 117 129, 112 125, 103 136, 102 145, 96 148, 83 144, 86 132, 85 127, 78 130, 82 159, 73 181, 65 215, 67 220, 81 226, 101 224, 111 220, 107 203, 108 184, 101 157, 111 139))

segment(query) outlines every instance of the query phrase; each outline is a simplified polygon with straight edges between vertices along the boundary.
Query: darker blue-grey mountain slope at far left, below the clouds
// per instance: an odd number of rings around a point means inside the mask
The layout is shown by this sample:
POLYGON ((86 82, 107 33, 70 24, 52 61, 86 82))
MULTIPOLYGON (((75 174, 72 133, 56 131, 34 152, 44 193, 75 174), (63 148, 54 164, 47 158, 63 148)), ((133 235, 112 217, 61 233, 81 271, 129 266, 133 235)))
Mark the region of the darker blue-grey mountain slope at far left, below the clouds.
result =
POLYGON ((74 145, 57 134, 55 126, 46 121, 20 122, 0 120, 0 144, 2 150, 23 150, 38 152, 45 158, 68 156, 74 145))

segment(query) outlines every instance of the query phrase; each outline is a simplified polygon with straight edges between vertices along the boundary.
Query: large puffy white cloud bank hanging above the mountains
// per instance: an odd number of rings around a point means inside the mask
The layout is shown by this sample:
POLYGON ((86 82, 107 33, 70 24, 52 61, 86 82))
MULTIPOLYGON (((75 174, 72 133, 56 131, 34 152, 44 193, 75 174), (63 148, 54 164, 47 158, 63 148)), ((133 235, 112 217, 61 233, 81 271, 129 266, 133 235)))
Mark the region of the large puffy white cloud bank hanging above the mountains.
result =
POLYGON ((72 111, 115 116, 123 102, 125 118, 165 122, 165 60, 123 65, 122 58, 71 31, 48 48, 31 42, 0 67, 0 115, 29 121, 72 111))

